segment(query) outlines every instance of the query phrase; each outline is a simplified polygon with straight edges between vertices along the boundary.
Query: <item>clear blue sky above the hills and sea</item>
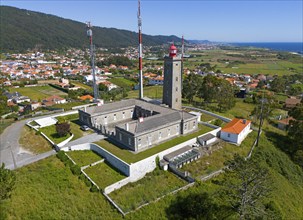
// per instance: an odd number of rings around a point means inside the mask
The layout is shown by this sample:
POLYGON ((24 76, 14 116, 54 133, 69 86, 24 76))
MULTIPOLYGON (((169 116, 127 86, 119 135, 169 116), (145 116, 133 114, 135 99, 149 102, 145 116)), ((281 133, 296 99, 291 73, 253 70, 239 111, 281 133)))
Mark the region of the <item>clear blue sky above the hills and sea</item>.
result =
MULTIPOLYGON (((137 31, 137 1, 1 0, 1 5, 137 31)), ((302 42, 302 0, 141 0, 143 33, 220 42, 302 42)))

